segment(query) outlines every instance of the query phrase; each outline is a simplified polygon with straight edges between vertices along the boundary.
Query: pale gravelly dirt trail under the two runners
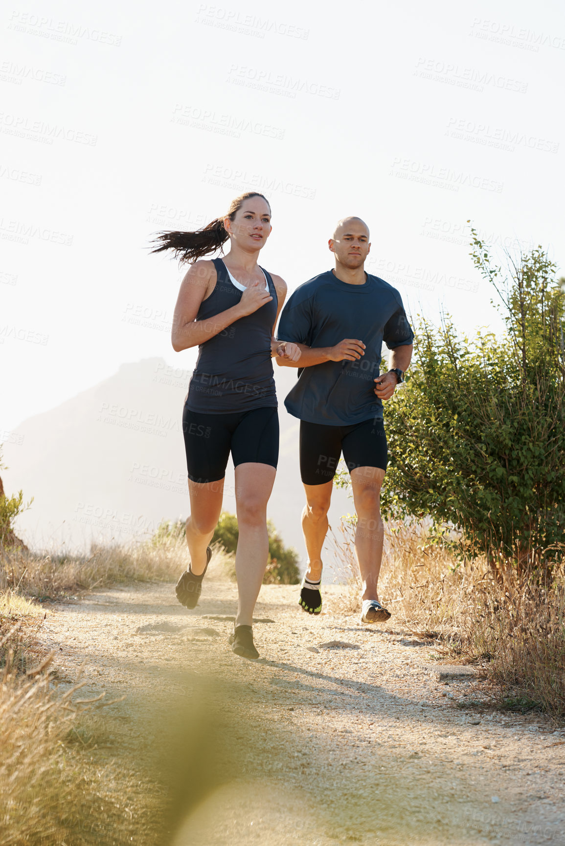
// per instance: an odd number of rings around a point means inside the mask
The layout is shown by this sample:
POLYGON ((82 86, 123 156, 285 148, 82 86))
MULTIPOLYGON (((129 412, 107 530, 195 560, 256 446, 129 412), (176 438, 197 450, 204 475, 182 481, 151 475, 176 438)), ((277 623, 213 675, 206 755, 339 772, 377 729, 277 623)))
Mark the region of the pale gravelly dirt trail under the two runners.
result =
POLYGON ((94 591, 53 607, 42 637, 60 672, 84 665, 92 695, 126 694, 108 709, 114 757, 158 748, 179 700, 190 721, 195 679, 239 691, 239 777, 208 793, 174 846, 565 844, 565 733, 461 707, 473 682, 438 681, 430 646, 394 618, 370 629, 332 611, 338 591, 312 618, 296 587, 263 586, 258 662, 230 651, 235 585, 212 579, 191 612, 172 585, 94 591))

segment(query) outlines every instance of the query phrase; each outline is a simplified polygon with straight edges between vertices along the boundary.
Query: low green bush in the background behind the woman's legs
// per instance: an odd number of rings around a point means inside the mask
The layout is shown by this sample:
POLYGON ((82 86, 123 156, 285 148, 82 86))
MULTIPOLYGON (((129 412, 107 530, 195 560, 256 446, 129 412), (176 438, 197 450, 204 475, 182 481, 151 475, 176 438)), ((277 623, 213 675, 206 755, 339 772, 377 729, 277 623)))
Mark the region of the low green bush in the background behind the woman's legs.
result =
MULTIPOLYGON (((267 521, 269 532, 269 561, 263 576, 265 585, 297 585, 300 581, 298 570, 298 553, 292 547, 286 548, 277 534, 271 520, 267 521)), ((161 546, 169 540, 184 536, 184 520, 163 520, 152 537, 155 546, 161 546)), ((235 514, 223 511, 219 515, 218 525, 213 533, 212 543, 219 543, 226 552, 234 552, 237 548, 239 529, 235 514)))

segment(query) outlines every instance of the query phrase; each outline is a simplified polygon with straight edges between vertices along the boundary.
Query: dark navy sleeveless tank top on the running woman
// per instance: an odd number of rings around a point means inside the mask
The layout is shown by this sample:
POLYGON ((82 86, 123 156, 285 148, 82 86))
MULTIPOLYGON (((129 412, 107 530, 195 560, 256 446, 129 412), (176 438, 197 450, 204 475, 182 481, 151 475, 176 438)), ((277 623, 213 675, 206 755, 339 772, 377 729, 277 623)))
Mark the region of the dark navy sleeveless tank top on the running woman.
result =
MULTIPOLYGON (((198 309, 197 320, 209 320, 241 300, 221 259, 213 259, 217 281, 198 309)), ((263 270, 263 267, 261 268, 263 270)), ((272 300, 251 315, 240 317, 198 348, 186 408, 208 414, 276 408, 271 338, 278 298, 269 273, 263 270, 272 300)))

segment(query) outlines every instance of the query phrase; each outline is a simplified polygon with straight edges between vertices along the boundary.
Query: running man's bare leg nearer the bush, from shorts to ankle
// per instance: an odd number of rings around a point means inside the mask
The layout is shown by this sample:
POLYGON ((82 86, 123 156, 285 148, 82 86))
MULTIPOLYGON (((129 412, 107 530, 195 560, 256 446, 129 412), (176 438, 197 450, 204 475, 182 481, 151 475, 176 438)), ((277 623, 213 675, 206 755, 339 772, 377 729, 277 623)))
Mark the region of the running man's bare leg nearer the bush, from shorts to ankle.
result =
POLYGON ((379 602, 377 584, 383 558, 383 520, 380 516, 380 488, 385 470, 357 467, 352 470, 353 502, 357 512, 355 554, 362 582, 362 601, 379 602))

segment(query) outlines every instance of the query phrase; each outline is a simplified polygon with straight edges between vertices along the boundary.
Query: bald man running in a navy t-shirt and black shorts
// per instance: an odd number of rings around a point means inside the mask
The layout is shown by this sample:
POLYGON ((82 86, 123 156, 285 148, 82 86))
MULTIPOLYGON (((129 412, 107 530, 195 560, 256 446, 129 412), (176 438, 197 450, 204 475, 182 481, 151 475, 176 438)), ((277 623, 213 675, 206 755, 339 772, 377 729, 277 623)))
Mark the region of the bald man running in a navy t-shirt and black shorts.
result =
POLYGON ((299 363, 277 360, 301 368, 285 399, 286 409, 301 421, 300 468, 306 492, 302 531, 308 563, 299 602, 308 613, 322 610, 322 546, 343 452, 357 511, 361 621, 380 623, 391 616, 377 592, 383 552, 379 497, 388 460, 383 400, 404 381, 413 332, 396 288, 363 269, 371 246, 366 223, 359 217, 344 218, 329 246, 335 269, 297 288, 279 325, 279 337, 302 351, 299 363), (383 341, 391 349, 391 369, 380 376, 383 341))

